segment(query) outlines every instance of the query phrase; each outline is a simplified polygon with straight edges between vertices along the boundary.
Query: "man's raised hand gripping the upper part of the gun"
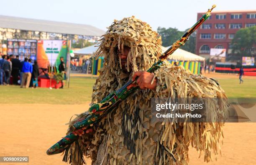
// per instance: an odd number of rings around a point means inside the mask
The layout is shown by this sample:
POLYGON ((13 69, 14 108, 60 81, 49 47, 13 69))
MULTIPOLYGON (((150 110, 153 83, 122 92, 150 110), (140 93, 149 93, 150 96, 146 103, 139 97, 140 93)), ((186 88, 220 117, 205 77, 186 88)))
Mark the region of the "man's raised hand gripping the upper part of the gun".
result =
POLYGON ((146 71, 135 72, 132 80, 134 81, 136 77, 138 77, 136 82, 141 89, 151 89, 151 90, 156 89, 157 78, 155 78, 153 81, 153 84, 151 84, 151 81, 154 77, 153 73, 146 72, 146 71))

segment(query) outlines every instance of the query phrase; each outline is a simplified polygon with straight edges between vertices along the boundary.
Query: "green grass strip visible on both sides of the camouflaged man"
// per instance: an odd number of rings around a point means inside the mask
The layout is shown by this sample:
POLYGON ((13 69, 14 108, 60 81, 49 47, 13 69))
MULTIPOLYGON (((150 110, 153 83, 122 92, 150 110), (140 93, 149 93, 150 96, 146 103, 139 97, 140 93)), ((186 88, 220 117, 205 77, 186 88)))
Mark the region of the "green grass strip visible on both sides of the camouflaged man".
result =
MULTIPOLYGON (((2 104, 85 104, 91 101, 95 80, 95 77, 71 77, 70 87, 58 90, 0 86, 0 100, 2 104)), ((238 78, 217 80, 228 97, 256 97, 256 80, 244 79, 243 84, 239 84, 238 78)))

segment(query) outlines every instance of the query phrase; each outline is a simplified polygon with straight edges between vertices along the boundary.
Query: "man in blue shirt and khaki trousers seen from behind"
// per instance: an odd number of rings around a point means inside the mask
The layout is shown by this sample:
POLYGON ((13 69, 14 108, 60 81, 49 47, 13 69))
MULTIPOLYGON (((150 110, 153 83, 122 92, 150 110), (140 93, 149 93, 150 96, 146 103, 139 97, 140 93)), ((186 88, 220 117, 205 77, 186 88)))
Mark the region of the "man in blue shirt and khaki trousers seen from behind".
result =
POLYGON ((31 59, 29 59, 29 60, 26 59, 22 66, 23 74, 22 74, 22 81, 20 83, 20 87, 26 87, 26 88, 29 87, 32 71, 33 71, 33 67, 31 64, 31 59))

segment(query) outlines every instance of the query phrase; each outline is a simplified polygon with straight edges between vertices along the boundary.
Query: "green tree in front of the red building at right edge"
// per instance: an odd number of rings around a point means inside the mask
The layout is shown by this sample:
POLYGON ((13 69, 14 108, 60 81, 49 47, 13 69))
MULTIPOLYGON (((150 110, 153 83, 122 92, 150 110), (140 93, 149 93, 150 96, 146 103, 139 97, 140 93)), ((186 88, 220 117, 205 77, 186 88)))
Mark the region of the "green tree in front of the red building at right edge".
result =
POLYGON ((241 56, 253 55, 253 46, 256 45, 256 26, 238 30, 231 42, 232 54, 241 56))

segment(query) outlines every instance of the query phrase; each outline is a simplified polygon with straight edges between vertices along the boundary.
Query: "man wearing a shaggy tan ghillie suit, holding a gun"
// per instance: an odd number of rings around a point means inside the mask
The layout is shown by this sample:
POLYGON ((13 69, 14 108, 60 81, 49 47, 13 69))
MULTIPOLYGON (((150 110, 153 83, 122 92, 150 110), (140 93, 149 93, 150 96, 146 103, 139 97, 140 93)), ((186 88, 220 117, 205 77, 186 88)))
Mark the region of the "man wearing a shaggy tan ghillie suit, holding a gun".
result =
MULTIPOLYGON (((161 55, 161 37, 147 23, 134 17, 114 20, 95 55, 104 55, 105 61, 93 87, 92 104, 136 77, 141 89, 85 133, 73 132, 81 137, 69 149, 67 158, 72 164, 83 164, 83 156, 88 156, 95 165, 186 165, 190 144, 204 151, 207 162, 211 150, 217 154, 223 123, 151 121, 151 98, 224 98, 214 103, 215 112, 223 117, 227 99, 215 80, 192 74, 182 66, 166 61, 154 74, 146 72, 161 55)), ((68 133, 83 119, 84 113, 72 120, 68 133)))

